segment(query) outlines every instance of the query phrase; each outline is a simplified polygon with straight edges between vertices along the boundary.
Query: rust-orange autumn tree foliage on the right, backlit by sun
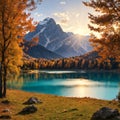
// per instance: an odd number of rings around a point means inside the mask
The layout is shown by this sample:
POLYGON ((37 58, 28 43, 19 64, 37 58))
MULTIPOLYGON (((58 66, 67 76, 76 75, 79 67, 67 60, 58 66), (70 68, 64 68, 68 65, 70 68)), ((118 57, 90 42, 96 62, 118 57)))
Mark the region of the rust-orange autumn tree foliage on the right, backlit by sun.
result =
POLYGON ((90 30, 99 33, 92 35, 91 42, 101 56, 100 61, 120 62, 120 0, 90 0, 83 2, 97 14, 90 14, 90 30))

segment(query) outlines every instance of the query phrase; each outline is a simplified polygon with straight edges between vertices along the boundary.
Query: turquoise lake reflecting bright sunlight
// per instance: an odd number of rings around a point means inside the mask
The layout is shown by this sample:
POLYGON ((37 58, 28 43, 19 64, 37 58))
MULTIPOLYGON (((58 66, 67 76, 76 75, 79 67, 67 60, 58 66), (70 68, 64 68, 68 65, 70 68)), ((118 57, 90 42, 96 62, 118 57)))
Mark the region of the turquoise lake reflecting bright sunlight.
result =
POLYGON ((32 71, 24 73, 7 86, 29 92, 67 97, 115 99, 120 91, 120 74, 115 72, 32 71))

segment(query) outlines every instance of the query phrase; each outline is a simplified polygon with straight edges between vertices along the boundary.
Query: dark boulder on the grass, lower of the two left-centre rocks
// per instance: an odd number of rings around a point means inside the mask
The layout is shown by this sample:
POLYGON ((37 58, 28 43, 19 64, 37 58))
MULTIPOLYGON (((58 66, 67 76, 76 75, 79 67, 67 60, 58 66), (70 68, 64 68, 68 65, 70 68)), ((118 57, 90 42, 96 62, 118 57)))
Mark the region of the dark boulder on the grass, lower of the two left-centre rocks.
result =
POLYGON ((37 107, 35 107, 34 105, 30 105, 23 108, 23 110, 19 112, 19 114, 22 114, 22 115, 31 114, 31 113, 35 113, 36 111, 37 111, 37 107))

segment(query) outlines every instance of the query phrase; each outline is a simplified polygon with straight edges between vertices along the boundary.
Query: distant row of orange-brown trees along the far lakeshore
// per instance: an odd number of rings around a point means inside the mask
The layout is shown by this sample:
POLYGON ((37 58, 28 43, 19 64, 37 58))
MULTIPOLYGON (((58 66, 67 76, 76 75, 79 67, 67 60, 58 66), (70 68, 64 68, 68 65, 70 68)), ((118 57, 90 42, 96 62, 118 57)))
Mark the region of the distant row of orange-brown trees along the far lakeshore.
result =
POLYGON ((24 60, 22 69, 119 69, 120 63, 111 60, 110 62, 100 63, 97 58, 78 56, 71 58, 62 58, 55 60, 47 59, 30 59, 24 60))

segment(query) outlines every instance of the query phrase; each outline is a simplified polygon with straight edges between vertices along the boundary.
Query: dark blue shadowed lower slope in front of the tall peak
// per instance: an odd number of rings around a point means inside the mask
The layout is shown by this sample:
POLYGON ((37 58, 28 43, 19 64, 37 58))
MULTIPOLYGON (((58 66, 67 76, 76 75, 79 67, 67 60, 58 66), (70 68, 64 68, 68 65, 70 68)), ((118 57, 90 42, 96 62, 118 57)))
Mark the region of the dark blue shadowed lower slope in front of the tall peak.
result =
MULTIPOLYGON (((26 45, 27 46, 27 45, 26 45)), ((33 58, 45 58, 45 59, 57 59, 62 58, 62 56, 53 53, 52 51, 46 49, 41 45, 27 46, 27 50, 25 50, 25 54, 28 56, 32 56, 33 58)))

